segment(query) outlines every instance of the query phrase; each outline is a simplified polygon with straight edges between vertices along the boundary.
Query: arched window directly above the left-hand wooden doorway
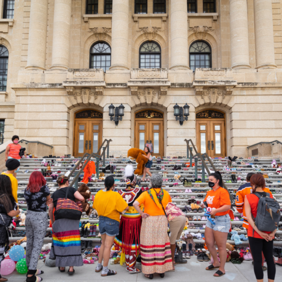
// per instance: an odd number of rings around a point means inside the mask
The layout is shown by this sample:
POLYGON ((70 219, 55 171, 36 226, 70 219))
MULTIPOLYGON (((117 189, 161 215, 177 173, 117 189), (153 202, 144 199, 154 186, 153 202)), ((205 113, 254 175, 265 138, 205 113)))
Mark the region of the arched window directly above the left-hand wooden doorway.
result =
POLYGON ((104 72, 111 66, 111 47, 105 42, 95 43, 90 49, 90 68, 103 68, 104 72))

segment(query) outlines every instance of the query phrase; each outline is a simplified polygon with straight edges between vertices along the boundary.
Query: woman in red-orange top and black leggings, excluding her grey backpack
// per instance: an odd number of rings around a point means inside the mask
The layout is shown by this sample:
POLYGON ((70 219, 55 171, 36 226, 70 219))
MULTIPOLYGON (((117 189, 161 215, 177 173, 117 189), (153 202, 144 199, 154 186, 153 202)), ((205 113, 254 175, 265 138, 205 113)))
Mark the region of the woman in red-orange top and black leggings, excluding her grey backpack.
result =
POLYGON ((267 194, 270 198, 273 198, 272 194, 264 192, 265 180, 260 173, 254 174, 251 179, 252 193, 246 195, 244 200, 246 218, 249 223, 248 239, 250 244, 251 253, 254 260, 254 272, 258 282, 263 282, 263 270, 262 264, 262 252, 267 264, 267 277, 268 281, 274 281, 275 278, 275 263, 273 261, 273 237, 276 232, 274 229, 272 232, 263 232, 257 229, 253 218, 257 215, 257 206, 259 197, 254 193, 258 193, 261 197, 266 197, 267 194))

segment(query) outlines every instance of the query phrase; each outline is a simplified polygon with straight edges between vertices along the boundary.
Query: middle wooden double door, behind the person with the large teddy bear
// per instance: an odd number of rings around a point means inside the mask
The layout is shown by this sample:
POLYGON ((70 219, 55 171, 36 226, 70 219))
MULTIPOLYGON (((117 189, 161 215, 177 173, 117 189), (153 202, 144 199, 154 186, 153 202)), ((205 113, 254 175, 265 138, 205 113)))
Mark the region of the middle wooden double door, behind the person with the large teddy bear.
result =
POLYGON ((144 150, 146 143, 153 144, 153 156, 164 156, 163 119, 135 119, 134 147, 144 150))

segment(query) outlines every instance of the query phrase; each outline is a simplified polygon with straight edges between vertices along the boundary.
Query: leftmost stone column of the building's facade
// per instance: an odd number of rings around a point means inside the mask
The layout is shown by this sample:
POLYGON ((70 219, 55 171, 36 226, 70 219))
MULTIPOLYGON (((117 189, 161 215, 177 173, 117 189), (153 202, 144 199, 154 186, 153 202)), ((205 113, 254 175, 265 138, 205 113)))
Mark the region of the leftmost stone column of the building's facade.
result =
POLYGON ((30 7, 27 69, 45 69, 48 0, 32 0, 30 7))

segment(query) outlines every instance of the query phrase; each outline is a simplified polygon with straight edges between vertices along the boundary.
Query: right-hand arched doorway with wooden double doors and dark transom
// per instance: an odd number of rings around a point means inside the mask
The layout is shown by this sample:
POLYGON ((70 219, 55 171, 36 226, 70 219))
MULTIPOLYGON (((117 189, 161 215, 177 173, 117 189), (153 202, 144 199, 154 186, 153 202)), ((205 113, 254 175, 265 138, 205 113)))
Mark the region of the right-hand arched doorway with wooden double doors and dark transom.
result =
POLYGON ((196 137, 198 153, 211 158, 226 156, 225 114, 216 110, 196 113, 196 137))

